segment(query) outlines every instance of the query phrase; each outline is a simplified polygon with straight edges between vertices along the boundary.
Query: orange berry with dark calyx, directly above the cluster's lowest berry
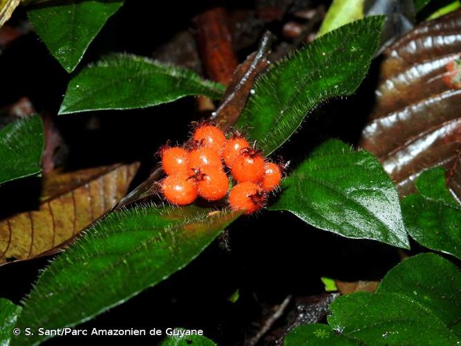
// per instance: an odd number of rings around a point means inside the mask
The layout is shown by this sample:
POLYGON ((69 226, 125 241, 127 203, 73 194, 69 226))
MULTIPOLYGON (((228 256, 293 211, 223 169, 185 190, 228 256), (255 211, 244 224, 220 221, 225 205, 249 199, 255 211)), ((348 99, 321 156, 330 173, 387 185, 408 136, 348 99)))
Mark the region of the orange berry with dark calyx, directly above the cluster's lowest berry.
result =
POLYGON ((264 176, 263 157, 250 147, 245 147, 240 152, 241 155, 232 163, 232 176, 238 183, 245 181, 258 183, 264 176))

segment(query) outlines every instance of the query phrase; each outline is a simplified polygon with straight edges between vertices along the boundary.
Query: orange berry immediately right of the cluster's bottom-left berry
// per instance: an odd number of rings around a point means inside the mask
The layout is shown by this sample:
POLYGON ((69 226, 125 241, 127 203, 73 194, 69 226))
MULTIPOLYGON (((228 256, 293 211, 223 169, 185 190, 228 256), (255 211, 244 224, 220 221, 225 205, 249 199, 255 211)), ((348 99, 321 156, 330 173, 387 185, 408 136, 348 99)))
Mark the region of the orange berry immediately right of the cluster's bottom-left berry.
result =
POLYGON ((206 173, 196 174, 198 195, 207 201, 218 201, 227 194, 229 179, 223 170, 210 167, 206 173))

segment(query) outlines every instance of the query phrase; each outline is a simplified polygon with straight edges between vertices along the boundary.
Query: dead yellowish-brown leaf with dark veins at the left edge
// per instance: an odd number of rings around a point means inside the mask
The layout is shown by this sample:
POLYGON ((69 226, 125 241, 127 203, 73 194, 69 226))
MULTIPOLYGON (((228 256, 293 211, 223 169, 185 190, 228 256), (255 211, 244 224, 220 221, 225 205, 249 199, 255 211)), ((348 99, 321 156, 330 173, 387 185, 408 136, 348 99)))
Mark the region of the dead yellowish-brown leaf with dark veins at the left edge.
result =
POLYGON ((112 165, 44 176, 39 209, 0 222, 0 264, 36 257, 73 237, 115 206, 138 167, 112 165))

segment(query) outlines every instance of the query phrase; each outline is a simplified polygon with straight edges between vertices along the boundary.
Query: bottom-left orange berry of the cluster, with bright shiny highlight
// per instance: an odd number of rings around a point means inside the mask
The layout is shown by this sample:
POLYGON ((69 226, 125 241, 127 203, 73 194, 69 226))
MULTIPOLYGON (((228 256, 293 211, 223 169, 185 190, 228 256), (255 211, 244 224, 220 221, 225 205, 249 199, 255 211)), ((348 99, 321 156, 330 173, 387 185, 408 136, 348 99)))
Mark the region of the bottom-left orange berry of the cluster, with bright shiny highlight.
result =
POLYGON ((187 174, 167 176, 161 182, 161 189, 167 201, 178 206, 187 206, 198 196, 196 182, 194 179, 189 179, 187 174))

